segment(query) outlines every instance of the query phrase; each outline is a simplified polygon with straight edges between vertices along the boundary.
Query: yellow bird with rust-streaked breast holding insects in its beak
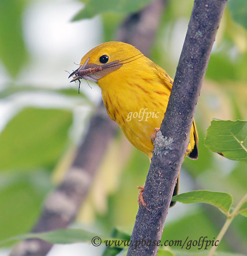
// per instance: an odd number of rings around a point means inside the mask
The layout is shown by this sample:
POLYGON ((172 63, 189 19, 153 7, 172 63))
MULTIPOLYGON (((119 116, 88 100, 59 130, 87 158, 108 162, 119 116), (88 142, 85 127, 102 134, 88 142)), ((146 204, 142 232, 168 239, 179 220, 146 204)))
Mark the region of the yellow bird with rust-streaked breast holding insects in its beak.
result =
MULTIPOLYGON (((136 47, 124 42, 104 42, 82 57, 71 82, 90 80, 101 88, 103 103, 110 118, 117 122, 126 138, 146 154, 151 162, 154 140, 164 118, 173 79, 136 47)), ((195 121, 190 131, 184 158, 198 158, 198 132, 195 121)), ((144 184, 145 185, 145 184, 144 184)), ((179 177, 173 195, 177 195, 179 177)), ((144 186, 139 206, 148 209, 144 186)), ((171 201, 170 207, 175 202, 171 201)))

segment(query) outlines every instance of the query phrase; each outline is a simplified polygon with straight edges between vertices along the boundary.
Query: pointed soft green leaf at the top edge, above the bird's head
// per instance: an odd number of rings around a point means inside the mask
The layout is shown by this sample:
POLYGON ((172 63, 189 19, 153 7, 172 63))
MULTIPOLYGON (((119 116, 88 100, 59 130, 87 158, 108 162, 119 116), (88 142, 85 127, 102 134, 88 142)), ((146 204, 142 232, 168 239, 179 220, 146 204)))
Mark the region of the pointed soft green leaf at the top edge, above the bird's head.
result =
POLYGON ((85 4, 85 8, 76 14, 73 21, 89 19, 105 12, 133 13, 143 8, 149 2, 151 0, 90 0, 85 4))

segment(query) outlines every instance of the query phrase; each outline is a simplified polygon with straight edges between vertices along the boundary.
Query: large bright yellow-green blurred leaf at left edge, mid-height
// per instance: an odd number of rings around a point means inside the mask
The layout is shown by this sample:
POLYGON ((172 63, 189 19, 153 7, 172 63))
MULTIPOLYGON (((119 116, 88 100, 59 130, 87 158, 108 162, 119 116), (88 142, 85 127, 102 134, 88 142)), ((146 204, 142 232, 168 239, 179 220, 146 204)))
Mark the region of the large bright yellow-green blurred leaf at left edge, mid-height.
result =
POLYGON ((26 108, 0 134, 0 170, 52 168, 68 141, 72 113, 26 108))

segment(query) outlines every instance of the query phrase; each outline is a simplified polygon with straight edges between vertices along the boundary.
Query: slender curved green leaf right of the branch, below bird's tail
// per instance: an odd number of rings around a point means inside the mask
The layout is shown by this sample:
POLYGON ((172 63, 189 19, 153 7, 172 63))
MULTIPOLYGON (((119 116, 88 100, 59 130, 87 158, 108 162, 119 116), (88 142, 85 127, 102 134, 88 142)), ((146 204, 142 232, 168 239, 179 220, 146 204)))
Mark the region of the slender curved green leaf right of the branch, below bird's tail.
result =
POLYGON ((233 203, 233 198, 228 193, 213 192, 207 190, 190 191, 180 195, 175 195, 172 200, 183 204, 205 203, 216 206, 221 212, 228 215, 233 203))

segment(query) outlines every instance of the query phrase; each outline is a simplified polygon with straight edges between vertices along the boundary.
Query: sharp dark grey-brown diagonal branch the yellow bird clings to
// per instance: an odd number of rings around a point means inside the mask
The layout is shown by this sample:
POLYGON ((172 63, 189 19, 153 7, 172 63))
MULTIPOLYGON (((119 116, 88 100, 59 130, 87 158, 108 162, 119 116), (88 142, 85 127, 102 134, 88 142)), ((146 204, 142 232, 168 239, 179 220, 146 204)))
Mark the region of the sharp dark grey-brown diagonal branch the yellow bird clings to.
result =
MULTIPOLYGON (((227 0, 195 0, 166 114, 157 133, 132 242, 160 240, 189 143, 193 116, 227 0)), ((129 247, 127 256, 156 256, 158 247, 129 247)))

